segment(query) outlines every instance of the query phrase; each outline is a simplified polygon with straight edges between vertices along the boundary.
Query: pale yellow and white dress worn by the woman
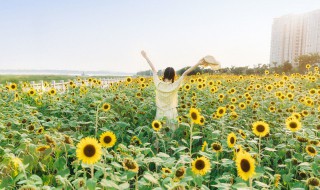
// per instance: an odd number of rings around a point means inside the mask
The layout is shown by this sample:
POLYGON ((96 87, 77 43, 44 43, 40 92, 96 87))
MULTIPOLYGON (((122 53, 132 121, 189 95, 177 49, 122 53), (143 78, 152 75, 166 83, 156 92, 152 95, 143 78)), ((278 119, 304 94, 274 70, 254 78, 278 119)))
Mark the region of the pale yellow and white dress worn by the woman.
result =
POLYGON ((183 81, 181 76, 174 83, 161 81, 157 73, 153 73, 153 81, 156 86, 156 120, 166 117, 170 120, 176 120, 178 117, 178 91, 183 81))

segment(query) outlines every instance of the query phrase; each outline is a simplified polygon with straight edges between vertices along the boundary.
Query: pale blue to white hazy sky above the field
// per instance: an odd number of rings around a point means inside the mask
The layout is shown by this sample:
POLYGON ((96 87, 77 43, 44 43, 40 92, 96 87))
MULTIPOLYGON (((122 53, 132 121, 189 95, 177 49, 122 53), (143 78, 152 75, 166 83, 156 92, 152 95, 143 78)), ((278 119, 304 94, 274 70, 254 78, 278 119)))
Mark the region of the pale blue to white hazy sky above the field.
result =
POLYGON ((135 73, 269 63, 273 18, 319 0, 0 0, 0 70, 135 73))

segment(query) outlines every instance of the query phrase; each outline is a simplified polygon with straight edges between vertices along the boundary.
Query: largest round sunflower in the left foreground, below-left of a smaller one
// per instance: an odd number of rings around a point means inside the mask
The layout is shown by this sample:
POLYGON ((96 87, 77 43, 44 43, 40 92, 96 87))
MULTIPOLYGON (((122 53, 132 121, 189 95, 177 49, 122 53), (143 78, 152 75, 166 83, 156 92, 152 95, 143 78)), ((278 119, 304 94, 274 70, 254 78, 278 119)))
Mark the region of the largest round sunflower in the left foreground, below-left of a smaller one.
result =
POLYGON ((83 138, 77 145, 76 154, 83 163, 94 164, 101 158, 101 145, 94 138, 83 138))

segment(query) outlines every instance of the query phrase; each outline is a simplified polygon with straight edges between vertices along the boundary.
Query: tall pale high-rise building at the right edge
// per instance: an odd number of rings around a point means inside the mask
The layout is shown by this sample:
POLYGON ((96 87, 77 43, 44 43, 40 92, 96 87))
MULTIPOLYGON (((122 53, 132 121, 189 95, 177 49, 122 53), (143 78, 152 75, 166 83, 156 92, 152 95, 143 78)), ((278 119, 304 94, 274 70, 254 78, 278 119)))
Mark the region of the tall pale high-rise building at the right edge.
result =
POLYGON ((295 58, 308 53, 320 53, 320 9, 274 18, 270 66, 286 61, 298 66, 295 58))

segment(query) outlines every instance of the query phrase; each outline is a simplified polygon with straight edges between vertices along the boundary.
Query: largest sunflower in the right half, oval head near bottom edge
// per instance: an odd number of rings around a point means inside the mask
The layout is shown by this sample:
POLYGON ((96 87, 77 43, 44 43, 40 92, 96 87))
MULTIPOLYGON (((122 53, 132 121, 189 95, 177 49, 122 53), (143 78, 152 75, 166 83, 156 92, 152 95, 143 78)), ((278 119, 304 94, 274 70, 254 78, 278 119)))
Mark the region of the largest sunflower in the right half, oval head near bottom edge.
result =
POLYGON ((255 174, 255 160, 247 152, 237 154, 236 165, 238 175, 245 181, 255 174))

